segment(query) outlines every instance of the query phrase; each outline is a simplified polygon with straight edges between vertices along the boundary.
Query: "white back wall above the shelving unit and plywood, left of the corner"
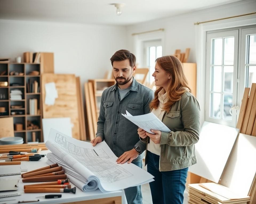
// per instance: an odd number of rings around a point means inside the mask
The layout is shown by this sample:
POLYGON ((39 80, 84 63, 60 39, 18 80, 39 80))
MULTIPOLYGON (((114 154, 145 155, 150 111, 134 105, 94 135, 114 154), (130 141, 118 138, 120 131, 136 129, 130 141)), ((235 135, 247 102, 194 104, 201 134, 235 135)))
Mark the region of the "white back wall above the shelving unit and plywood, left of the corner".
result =
POLYGON ((80 76, 81 84, 103 78, 110 57, 126 48, 124 26, 0 20, 0 58, 54 52, 54 72, 80 76))

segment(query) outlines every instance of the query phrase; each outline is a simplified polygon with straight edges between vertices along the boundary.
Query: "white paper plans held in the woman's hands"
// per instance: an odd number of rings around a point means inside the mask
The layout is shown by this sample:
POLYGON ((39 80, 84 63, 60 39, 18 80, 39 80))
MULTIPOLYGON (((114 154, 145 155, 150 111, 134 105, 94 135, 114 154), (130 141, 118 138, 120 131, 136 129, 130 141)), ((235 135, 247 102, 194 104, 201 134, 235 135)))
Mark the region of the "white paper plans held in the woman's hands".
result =
POLYGON ((139 116, 132 116, 128 111, 126 114, 122 114, 129 121, 133 122, 139 128, 145 130, 148 133, 152 133, 150 130, 160 130, 163 132, 170 132, 171 130, 167 128, 165 124, 154 113, 147 113, 139 116))

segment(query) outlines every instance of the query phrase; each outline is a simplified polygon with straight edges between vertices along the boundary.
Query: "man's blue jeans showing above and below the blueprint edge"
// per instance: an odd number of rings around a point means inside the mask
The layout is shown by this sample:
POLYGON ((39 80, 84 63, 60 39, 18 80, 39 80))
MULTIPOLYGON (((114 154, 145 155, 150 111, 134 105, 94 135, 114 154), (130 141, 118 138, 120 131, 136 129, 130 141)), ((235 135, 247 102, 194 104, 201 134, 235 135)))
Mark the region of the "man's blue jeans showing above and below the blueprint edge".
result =
MULTIPOLYGON (((142 159, 140 159, 138 162, 132 161, 131 163, 142 168, 142 159)), ((141 186, 126 188, 125 196, 128 204, 142 204, 141 186)))

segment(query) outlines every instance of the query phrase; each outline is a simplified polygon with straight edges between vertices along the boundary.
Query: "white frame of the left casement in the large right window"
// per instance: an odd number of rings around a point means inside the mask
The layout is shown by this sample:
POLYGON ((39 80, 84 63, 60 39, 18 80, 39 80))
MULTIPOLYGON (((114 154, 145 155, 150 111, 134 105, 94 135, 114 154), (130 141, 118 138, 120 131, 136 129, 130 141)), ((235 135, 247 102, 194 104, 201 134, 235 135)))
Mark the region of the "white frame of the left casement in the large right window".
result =
MULTIPOLYGON (((211 67, 213 66, 211 64, 211 56, 212 56, 212 42, 213 39, 218 38, 226 38, 226 37, 233 37, 234 36, 234 70, 233 70, 233 101, 232 101, 232 107, 237 106, 237 73, 238 73, 238 33, 239 30, 230 30, 230 31, 214 31, 214 32, 207 32, 206 36, 206 86, 205 86, 205 120, 208 122, 214 122, 218 124, 228 125, 235 127, 236 121, 237 121, 237 115, 236 111, 232 110, 232 120, 224 120, 219 118, 214 118, 210 116, 211 111, 211 103, 210 103, 210 94, 213 92, 211 91, 211 67)), ((223 40, 224 43, 224 40, 223 40)), ((222 44, 223 44, 222 43, 222 44)), ((223 56, 224 56, 224 46, 222 46, 222 74, 223 74, 223 56)), ((223 75, 222 75, 223 76, 223 75)), ((221 87, 223 89, 223 78, 221 78, 221 87)), ((221 95, 225 94, 223 92, 220 92, 221 95)), ((223 107, 223 99, 221 97, 221 104, 220 108, 223 107)))

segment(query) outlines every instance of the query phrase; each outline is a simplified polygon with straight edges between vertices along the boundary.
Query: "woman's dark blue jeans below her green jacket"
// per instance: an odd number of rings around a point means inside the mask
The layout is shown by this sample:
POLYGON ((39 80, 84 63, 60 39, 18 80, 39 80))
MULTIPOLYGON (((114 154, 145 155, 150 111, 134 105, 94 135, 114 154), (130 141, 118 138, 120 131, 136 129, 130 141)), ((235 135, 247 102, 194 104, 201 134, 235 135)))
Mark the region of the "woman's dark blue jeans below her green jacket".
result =
POLYGON ((155 178, 149 183, 154 204, 182 204, 188 168, 159 171, 159 156, 147 151, 147 171, 155 178))

